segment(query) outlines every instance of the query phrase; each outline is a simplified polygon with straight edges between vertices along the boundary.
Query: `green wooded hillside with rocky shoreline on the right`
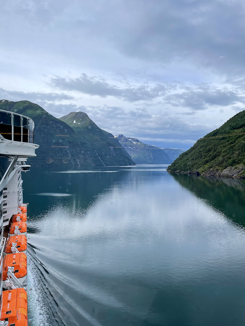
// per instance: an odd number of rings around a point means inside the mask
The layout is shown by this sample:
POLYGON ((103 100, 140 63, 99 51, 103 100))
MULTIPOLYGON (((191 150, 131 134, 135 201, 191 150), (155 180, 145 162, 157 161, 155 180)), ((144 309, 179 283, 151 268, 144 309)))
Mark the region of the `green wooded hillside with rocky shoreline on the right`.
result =
POLYGON ((168 167, 169 172, 245 176, 245 111, 199 139, 168 167))

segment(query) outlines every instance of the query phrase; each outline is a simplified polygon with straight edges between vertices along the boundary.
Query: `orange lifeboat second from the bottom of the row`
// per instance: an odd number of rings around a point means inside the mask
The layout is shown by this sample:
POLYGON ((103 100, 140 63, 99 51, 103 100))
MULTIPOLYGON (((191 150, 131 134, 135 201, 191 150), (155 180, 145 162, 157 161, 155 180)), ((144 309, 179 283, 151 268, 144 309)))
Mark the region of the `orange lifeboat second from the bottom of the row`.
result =
POLYGON ((27 280, 27 258, 23 252, 17 254, 6 255, 3 259, 3 287, 7 279, 8 266, 14 267, 14 276, 18 278, 20 283, 27 280))

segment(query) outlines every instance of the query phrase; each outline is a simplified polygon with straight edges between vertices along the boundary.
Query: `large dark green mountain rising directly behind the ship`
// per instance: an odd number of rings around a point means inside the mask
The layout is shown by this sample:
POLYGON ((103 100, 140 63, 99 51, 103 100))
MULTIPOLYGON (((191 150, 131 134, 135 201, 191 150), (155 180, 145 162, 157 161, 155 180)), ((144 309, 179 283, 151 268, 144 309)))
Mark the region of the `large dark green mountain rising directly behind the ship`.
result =
MULTIPOLYGON (((78 134, 65 122, 55 118, 39 105, 29 101, 12 102, 0 101, 0 109, 12 111, 30 117, 35 123, 35 143, 40 147, 36 150, 37 157, 28 158, 33 166, 62 166, 62 165, 129 165, 134 162, 122 151, 113 149, 115 143, 108 139, 110 156, 97 153, 105 141, 99 138, 94 141, 87 135, 78 134), (110 147, 111 146, 111 147, 110 147), (117 159, 115 156, 118 155, 117 159), (109 156, 109 157, 107 157, 109 156), (118 164, 115 164, 117 161, 118 164)), ((107 154, 107 152, 106 152, 107 154)))

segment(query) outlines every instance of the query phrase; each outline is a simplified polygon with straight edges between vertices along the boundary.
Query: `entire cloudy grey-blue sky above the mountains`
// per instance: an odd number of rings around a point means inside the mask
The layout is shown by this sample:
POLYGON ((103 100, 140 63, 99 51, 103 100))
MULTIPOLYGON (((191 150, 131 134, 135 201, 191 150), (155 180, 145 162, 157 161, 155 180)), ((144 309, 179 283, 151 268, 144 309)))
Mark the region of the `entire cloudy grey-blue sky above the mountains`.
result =
POLYGON ((245 106, 244 1, 8 0, 0 98, 188 149, 245 106))

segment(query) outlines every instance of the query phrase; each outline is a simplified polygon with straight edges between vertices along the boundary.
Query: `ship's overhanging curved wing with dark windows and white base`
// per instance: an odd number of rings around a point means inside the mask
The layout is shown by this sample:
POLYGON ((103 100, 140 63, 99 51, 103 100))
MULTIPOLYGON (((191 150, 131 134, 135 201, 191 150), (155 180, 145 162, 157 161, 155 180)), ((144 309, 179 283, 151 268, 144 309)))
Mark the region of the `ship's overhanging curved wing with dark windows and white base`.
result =
POLYGON ((0 154, 23 157, 36 156, 34 122, 30 118, 0 110, 0 154))

